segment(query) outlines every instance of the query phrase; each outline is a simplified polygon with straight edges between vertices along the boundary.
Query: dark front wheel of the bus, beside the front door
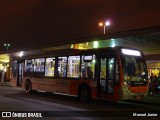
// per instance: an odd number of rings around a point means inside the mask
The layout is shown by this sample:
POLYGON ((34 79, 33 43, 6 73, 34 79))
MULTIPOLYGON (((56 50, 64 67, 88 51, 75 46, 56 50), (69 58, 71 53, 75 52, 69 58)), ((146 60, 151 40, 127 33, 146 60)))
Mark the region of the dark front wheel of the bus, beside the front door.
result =
POLYGON ((79 88, 78 97, 82 102, 89 102, 91 100, 91 91, 88 85, 83 85, 79 88))

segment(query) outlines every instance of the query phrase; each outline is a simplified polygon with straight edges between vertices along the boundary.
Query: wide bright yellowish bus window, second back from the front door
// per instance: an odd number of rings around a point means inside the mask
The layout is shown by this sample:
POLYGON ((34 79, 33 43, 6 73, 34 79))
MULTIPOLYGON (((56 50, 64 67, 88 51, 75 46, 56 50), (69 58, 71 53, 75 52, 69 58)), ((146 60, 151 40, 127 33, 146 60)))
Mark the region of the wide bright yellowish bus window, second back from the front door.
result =
POLYGON ((80 74, 80 56, 68 57, 67 77, 78 78, 80 74))

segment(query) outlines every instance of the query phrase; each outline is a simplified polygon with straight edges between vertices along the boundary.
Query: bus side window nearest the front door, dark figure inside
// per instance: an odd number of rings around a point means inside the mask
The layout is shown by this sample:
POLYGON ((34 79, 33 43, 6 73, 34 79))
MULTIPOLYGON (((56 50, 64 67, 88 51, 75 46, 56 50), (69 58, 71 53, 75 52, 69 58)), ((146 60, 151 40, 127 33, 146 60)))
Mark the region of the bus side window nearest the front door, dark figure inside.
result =
POLYGON ((94 73, 95 73, 94 71, 95 71, 95 55, 82 56, 81 78, 88 78, 88 79, 94 78, 94 73), (90 60, 90 58, 92 58, 92 60, 90 60))

